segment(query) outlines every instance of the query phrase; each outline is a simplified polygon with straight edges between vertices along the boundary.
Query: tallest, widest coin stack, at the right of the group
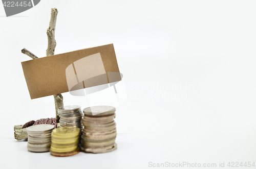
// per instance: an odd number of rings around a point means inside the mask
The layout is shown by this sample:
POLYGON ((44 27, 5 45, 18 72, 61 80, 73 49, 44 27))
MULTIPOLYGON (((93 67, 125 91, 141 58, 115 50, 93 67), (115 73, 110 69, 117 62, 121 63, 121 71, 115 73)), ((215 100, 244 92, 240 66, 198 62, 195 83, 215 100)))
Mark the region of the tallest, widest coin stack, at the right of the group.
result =
POLYGON ((81 150, 105 153, 117 149, 116 109, 111 106, 94 106, 83 109, 81 150))

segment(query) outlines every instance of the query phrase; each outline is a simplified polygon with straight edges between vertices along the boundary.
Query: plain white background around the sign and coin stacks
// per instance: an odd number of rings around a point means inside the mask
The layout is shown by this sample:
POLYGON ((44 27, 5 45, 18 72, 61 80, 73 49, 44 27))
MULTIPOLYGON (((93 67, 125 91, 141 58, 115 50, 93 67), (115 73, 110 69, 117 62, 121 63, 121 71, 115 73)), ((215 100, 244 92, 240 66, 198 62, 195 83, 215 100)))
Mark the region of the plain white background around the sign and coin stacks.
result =
MULTIPOLYGON (((41 0, 6 17, 0 5, 1 168, 256 163, 255 9, 246 0, 41 0), (46 56, 53 7, 55 54, 114 43, 127 91, 117 107, 114 152, 57 158, 14 139, 14 125, 55 116, 53 96, 30 99, 20 63, 30 60, 24 47, 46 56)), ((82 97, 63 97, 65 105, 88 107, 82 97)))

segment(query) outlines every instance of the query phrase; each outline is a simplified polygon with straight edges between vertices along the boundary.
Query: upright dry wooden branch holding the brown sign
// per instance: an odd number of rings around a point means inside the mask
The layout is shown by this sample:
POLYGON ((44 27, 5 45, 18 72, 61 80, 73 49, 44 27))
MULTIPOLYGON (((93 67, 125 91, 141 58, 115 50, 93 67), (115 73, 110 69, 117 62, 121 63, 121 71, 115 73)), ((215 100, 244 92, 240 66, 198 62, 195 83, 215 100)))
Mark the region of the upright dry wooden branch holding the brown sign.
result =
MULTIPOLYGON (((55 27, 56 27, 57 14, 58 14, 58 10, 56 8, 52 8, 49 28, 47 29, 48 48, 46 51, 46 56, 54 55, 54 50, 56 47, 55 27)), ((58 123, 59 122, 58 108, 63 107, 63 96, 61 94, 55 94, 53 95, 53 97, 55 102, 56 120, 58 123)))

